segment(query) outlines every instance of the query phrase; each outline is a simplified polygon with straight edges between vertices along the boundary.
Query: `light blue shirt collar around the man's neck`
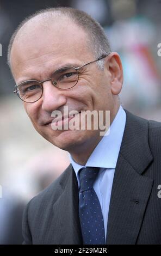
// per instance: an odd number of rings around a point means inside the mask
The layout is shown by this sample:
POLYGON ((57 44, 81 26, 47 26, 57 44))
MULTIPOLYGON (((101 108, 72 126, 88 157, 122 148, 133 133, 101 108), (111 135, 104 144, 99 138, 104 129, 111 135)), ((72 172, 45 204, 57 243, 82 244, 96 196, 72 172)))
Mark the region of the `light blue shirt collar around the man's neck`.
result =
MULTIPOLYGON (((126 124, 126 113, 120 106, 119 111, 110 125, 110 132, 106 136, 103 136, 101 141, 97 144, 94 151, 90 155, 85 167, 99 167, 99 168, 112 168, 116 167, 117 158, 121 147, 123 132, 126 124)), ((73 169, 78 176, 78 171, 84 166, 76 163, 70 155, 70 161, 73 169)))

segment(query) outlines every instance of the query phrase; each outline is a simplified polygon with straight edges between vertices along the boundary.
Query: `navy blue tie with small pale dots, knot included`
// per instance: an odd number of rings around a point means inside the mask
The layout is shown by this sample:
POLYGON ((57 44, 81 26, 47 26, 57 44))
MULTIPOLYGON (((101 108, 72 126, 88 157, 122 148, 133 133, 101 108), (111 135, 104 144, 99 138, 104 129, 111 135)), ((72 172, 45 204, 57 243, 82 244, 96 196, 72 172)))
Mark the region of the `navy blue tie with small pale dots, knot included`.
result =
POLYGON ((105 245, 100 202, 93 188, 99 168, 80 169, 79 218, 84 245, 105 245))

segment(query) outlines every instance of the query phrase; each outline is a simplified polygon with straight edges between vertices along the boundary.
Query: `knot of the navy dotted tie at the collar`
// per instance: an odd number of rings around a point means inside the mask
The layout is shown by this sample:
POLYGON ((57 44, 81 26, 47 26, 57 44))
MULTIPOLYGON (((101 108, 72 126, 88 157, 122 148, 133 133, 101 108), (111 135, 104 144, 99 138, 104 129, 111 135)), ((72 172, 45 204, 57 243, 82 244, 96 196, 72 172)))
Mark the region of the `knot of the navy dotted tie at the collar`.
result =
POLYGON ((80 192, 90 190, 93 185, 94 181, 98 175, 100 168, 97 167, 86 167, 80 169, 79 177, 80 177, 80 192))

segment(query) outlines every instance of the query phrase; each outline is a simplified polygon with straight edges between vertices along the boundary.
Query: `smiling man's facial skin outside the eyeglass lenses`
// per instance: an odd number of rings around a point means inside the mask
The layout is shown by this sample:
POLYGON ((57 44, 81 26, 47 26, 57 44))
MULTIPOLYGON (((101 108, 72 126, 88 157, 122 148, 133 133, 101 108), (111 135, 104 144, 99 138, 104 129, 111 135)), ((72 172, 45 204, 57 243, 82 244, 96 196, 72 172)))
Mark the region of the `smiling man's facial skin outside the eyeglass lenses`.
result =
MULTIPOLYGON (((11 67, 16 84, 30 79, 44 81, 62 66, 82 66, 96 59, 89 50, 88 36, 71 21, 57 22, 50 28, 40 27, 36 23, 23 29, 11 51, 11 67)), ((63 107, 66 106, 69 112, 109 110, 113 117, 116 109, 111 77, 107 65, 104 70, 99 70, 96 63, 92 63, 80 70, 79 81, 71 89, 60 90, 51 81, 44 82, 41 99, 34 103, 24 102, 24 108, 35 129, 52 144, 69 152, 78 145, 87 146, 100 141, 100 131, 54 131, 49 123, 53 119, 51 113, 59 110, 63 114, 63 107)))

